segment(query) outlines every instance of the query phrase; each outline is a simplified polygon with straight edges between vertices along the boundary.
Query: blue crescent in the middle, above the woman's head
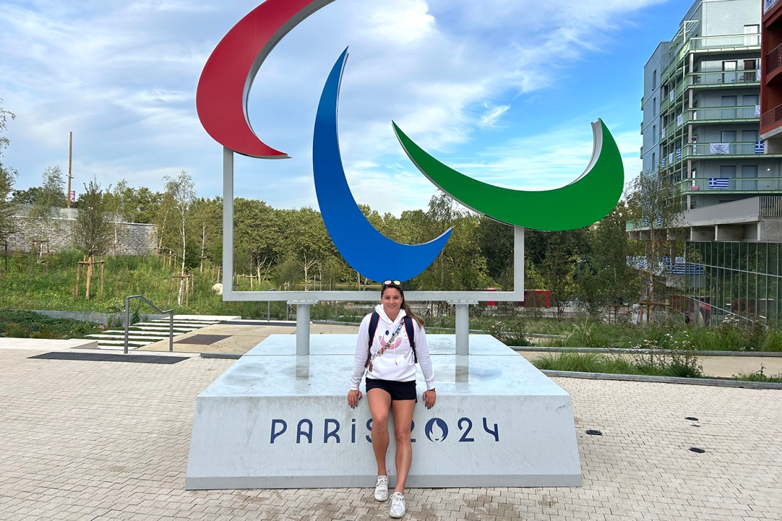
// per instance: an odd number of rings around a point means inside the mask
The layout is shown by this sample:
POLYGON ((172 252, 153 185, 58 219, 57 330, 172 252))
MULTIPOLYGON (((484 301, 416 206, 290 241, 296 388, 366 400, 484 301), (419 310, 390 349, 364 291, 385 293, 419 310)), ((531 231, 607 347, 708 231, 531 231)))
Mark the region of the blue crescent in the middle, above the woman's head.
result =
POLYGON ((354 270, 371 280, 410 280, 442 253, 453 228, 424 244, 400 244, 378 232, 353 199, 339 153, 337 110, 347 49, 328 75, 317 106, 312 167, 317 204, 334 246, 354 270))

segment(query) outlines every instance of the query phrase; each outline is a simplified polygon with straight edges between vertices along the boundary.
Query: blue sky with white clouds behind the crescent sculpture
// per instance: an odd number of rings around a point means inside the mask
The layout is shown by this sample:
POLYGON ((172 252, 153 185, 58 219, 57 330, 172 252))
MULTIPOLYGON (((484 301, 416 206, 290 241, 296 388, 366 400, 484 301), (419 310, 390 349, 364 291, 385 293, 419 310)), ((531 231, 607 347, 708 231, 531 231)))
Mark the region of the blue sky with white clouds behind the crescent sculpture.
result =
MULTIPOLYGON (((187 171, 222 194, 222 147, 195 110, 206 59, 253 0, 0 0, 0 99, 16 115, 16 189, 47 167, 73 189, 163 190, 187 171)), ((602 118, 626 181, 640 171, 643 67, 691 6, 680 0, 336 0, 295 27, 249 95, 253 130, 287 160, 237 156, 235 196, 317 208, 312 136, 328 72, 350 48, 339 143, 358 203, 399 215, 436 194, 391 121, 443 163, 513 189, 579 177, 602 118)))

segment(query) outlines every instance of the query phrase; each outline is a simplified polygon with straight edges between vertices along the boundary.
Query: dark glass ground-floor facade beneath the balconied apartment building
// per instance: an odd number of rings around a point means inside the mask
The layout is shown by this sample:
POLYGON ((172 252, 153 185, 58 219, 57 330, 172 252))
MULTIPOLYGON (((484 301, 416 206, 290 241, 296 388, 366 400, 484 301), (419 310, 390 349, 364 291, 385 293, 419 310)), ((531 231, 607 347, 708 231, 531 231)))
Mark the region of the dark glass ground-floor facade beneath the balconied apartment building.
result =
POLYGON ((780 243, 687 243, 687 262, 703 266, 687 275, 690 311, 710 324, 726 314, 782 324, 780 255, 780 243))

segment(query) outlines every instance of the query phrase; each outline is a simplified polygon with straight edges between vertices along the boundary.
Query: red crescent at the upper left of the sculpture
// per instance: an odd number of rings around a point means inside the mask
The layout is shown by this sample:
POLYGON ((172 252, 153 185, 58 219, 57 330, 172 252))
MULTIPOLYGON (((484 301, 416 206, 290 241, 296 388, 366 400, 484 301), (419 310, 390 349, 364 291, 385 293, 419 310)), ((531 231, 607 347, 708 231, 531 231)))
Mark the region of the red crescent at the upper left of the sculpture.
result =
POLYGON ((247 96, 271 49, 307 16, 334 0, 267 0, 239 20, 206 60, 195 107, 203 128, 222 146, 245 156, 285 159, 267 146, 247 117, 247 96))

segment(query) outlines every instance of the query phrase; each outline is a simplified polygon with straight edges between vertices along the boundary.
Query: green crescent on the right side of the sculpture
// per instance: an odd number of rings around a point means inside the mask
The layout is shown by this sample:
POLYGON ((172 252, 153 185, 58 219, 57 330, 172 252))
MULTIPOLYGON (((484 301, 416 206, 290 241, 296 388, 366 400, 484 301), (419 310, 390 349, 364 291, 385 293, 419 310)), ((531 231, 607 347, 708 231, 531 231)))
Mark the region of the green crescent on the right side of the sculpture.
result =
POLYGON ((508 225, 548 232, 583 228, 610 214, 622 196, 622 156, 600 119, 592 124, 594 149, 587 170, 569 185, 540 192, 505 189, 460 174, 421 149, 396 123, 393 128, 407 156, 429 181, 465 207, 508 225))

